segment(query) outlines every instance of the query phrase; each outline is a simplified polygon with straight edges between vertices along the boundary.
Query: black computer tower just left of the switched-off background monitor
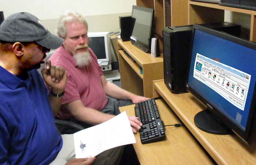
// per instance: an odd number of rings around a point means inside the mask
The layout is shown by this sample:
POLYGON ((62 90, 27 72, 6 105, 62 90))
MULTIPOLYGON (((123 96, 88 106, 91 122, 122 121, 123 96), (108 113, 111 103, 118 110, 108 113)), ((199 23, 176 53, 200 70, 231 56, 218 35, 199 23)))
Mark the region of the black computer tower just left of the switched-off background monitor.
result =
POLYGON ((132 16, 119 16, 120 37, 122 41, 130 41, 135 18, 132 16))

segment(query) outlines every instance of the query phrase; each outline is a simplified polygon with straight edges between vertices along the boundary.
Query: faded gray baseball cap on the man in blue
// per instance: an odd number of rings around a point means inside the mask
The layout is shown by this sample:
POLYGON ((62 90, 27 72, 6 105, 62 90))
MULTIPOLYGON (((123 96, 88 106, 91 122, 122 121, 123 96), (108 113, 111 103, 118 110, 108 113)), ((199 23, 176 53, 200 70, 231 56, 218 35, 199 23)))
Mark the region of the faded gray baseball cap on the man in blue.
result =
POLYGON ((0 41, 35 41, 48 49, 57 49, 64 40, 51 34, 36 16, 27 12, 19 12, 8 16, 1 24, 0 41))

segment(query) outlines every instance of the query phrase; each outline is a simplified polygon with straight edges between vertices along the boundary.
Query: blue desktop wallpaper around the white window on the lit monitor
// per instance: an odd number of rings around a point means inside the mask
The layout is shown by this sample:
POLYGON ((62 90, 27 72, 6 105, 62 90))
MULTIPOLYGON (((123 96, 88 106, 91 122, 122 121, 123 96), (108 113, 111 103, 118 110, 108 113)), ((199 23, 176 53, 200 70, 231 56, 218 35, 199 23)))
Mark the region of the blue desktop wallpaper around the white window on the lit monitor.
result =
POLYGON ((256 50, 238 45, 225 39, 195 29, 188 84, 209 103, 245 130, 256 82, 256 50), (196 54, 219 62, 251 75, 244 111, 240 110, 210 87, 193 77, 196 54), (242 115, 241 123, 236 122, 237 112, 242 115))

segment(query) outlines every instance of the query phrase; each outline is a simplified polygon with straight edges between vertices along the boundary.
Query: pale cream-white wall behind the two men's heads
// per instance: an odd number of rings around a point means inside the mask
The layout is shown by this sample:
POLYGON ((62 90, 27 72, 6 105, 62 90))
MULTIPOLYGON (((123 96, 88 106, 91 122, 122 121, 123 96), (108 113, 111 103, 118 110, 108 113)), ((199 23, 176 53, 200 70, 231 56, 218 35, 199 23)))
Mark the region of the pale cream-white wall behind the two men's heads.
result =
MULTIPOLYGON (((131 15, 136 0, 0 0, 4 18, 16 12, 29 12, 39 18, 55 34, 56 22, 66 10, 84 15, 89 32, 119 31, 119 16, 131 15)), ((116 61, 112 50, 112 61, 116 61)))

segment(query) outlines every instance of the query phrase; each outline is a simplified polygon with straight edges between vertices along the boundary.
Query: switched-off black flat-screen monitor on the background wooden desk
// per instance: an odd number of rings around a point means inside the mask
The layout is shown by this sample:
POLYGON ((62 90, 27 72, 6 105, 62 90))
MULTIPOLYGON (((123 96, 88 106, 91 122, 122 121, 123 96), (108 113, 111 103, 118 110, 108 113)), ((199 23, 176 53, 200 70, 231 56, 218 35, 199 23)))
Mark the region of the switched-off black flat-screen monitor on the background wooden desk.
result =
POLYGON ((154 9, 133 5, 132 18, 135 18, 135 24, 131 43, 147 52, 151 48, 151 38, 154 37, 154 9))

